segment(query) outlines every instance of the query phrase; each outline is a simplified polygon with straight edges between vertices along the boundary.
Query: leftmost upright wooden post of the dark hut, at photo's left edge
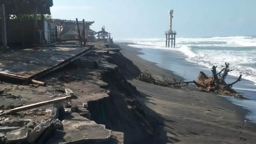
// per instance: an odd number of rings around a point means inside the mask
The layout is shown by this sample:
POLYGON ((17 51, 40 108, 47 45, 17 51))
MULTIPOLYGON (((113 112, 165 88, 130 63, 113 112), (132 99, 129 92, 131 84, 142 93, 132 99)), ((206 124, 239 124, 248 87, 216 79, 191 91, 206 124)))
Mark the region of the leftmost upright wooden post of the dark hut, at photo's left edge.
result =
POLYGON ((1 4, 1 15, 2 15, 2 40, 4 48, 7 48, 7 31, 6 31, 6 20, 5 20, 5 4, 1 4))

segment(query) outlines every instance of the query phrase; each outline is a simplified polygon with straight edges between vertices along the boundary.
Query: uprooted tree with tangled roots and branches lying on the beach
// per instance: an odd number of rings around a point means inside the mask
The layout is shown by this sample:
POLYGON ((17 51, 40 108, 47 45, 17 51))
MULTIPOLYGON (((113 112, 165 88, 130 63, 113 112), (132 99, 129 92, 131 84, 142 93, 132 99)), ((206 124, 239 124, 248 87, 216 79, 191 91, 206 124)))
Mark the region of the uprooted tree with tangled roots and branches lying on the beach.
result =
POLYGON ((200 72, 197 77, 197 81, 183 81, 183 79, 177 81, 174 74, 172 78, 163 75, 163 81, 160 81, 155 79, 148 71, 142 72, 137 78, 140 81, 178 89, 180 89, 182 86, 193 83, 197 85, 197 87, 199 87, 202 91, 215 92, 218 94, 244 98, 241 94, 238 94, 235 90, 232 89, 234 84, 236 84, 238 81, 241 81, 242 75, 240 75, 238 79, 233 83, 227 84, 225 79, 228 73, 233 71, 229 69, 229 63, 225 63, 225 67, 222 68, 220 72, 217 72, 216 68, 216 66, 211 68, 212 76, 207 76, 204 72, 200 72))

